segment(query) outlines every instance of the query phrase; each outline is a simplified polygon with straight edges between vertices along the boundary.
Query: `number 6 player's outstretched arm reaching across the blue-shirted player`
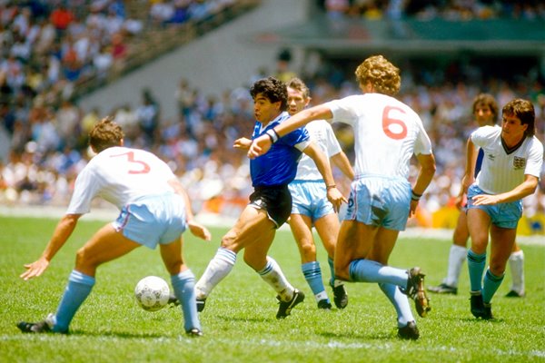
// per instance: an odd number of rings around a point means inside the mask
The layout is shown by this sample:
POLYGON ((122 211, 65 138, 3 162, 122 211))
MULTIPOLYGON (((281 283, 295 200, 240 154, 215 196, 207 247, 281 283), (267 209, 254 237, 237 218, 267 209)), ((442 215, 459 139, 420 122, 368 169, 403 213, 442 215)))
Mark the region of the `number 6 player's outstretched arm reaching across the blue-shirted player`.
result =
MULTIPOLYGON (((307 123, 310 123, 314 120, 329 120, 333 117, 332 111, 329 107, 324 104, 319 104, 317 106, 311 107, 302 112, 294 114, 288 120, 274 127, 271 132, 275 133, 274 137, 282 137, 295 129, 298 129, 304 126, 307 123)), ((270 134, 263 134, 262 136, 253 139, 250 150, 248 150, 248 157, 254 159, 258 156, 263 155, 271 149, 272 145, 272 136, 270 134)))

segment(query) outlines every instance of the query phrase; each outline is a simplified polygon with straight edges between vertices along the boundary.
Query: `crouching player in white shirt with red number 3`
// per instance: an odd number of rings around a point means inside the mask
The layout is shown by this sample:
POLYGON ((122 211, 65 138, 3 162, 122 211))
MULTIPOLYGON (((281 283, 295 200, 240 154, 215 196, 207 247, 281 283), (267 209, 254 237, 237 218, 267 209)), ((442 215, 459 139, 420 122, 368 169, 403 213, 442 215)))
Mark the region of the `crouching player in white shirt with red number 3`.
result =
POLYGON ((44 273, 77 221, 90 211, 94 197, 110 201, 120 214, 77 251, 74 270, 56 312, 37 323, 20 322, 17 327, 23 332, 68 333, 75 313, 94 287, 99 266, 138 247, 159 246, 174 294, 181 301, 184 329, 193 337, 203 335, 195 309, 195 278, 183 261, 182 233, 189 229, 193 235, 210 240, 210 231, 193 220, 189 198, 168 165, 151 152, 124 147, 123 139, 121 127, 109 117, 89 132, 89 145, 97 154, 78 174, 68 210, 42 256, 25 264, 21 278, 30 280, 44 273))

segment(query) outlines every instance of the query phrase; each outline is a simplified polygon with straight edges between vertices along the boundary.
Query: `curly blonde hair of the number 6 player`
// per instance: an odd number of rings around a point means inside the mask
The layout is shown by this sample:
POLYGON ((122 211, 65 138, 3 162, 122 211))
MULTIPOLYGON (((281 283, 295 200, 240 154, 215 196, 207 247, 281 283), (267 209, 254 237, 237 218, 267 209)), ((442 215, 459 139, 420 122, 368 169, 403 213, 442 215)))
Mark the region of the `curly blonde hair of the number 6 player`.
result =
POLYGON ((393 96, 400 92, 400 69, 382 55, 372 55, 356 68, 356 79, 362 87, 372 84, 375 93, 393 96))

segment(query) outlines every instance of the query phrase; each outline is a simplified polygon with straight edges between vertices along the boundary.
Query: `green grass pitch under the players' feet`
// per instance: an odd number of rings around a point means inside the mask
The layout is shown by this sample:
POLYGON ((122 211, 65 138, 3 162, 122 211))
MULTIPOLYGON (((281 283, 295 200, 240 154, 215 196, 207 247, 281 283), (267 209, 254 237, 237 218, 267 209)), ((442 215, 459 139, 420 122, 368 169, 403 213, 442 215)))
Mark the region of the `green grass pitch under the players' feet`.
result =
MULTIPOLYGON (((507 299, 510 271, 493 299, 497 319, 473 319, 467 270, 457 296, 432 296, 428 318, 417 319, 421 338, 396 338, 395 311, 374 284, 349 284, 347 309, 316 309, 302 277, 289 231, 279 231, 270 254, 292 284, 307 294, 292 316, 278 321, 274 292, 243 263, 214 289, 201 314, 203 338, 186 338, 180 309, 146 312, 134 300, 138 280, 168 280, 157 250, 141 248, 102 266, 93 293, 76 314, 68 336, 22 334, 19 320, 53 312, 74 267, 74 253, 104 222, 80 221, 45 274, 24 281, 23 265, 45 247, 56 221, 0 217, 0 361, 5 362, 543 362, 545 361, 545 246, 522 244, 526 256, 525 299, 507 299)), ((185 234, 185 258, 199 277, 218 247, 185 234)), ((449 239, 401 238, 391 265, 427 272, 436 284, 446 270, 449 239)), ((329 278, 325 254, 319 257, 329 278)), ((509 268, 508 268, 509 269, 509 268)), ((330 297, 331 290, 328 289, 330 297)), ((416 315, 416 313, 415 313, 416 315)))

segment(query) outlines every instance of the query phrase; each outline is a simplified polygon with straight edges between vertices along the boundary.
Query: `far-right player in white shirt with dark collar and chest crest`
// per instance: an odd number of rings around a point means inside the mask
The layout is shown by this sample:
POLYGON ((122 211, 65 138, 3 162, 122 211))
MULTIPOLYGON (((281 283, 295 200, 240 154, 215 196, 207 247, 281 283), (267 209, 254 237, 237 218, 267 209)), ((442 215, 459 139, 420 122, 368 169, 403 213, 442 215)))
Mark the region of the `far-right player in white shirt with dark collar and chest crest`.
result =
POLYGON ((481 319, 493 318, 491 299, 500 288, 515 243, 522 198, 536 191, 543 164, 533 104, 514 99, 503 106, 501 119, 501 128, 484 126, 471 133, 462 180, 471 236, 471 314, 481 319), (475 178, 476 148, 482 149, 484 157, 475 178), (490 262, 485 272, 489 235, 490 262))

